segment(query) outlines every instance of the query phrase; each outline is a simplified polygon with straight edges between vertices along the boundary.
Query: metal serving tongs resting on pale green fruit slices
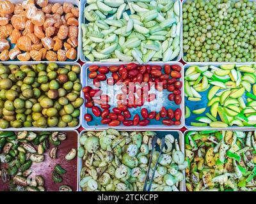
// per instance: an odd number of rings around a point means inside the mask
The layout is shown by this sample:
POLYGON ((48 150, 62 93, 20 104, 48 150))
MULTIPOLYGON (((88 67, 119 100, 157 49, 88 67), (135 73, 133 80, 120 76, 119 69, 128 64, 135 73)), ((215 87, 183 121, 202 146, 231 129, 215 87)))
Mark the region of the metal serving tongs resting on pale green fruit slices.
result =
POLYGON ((152 172, 152 177, 151 177, 151 179, 149 181, 149 186, 148 186, 148 189, 147 189, 147 184, 148 184, 148 179, 149 179, 149 172, 150 172, 150 166, 151 166, 151 163, 152 163, 152 157, 153 157, 153 153, 154 153, 156 144, 157 144, 157 136, 154 136, 152 138, 152 150, 151 150, 150 159, 149 159, 149 162, 148 162, 148 170, 147 170, 147 175, 146 175, 145 183, 144 183, 144 186, 143 186, 143 191, 150 191, 150 189, 151 189, 152 182, 154 180, 154 176, 155 176, 155 172, 156 172, 156 168, 157 168, 157 165, 159 163, 161 154, 163 152, 163 148, 164 148, 164 144, 165 144, 164 137, 161 139, 160 153, 159 153, 159 156, 157 157, 156 165, 154 166, 154 170, 152 172))

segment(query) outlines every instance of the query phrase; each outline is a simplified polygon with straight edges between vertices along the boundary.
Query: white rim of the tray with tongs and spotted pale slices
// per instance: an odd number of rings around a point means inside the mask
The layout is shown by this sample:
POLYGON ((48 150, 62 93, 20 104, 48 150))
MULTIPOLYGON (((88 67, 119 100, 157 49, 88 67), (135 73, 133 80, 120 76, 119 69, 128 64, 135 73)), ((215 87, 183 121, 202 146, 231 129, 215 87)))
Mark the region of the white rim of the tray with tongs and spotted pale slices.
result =
MULTIPOLYGON (((119 130, 119 129, 118 129, 119 130)), ((85 133, 86 131, 95 131, 93 129, 86 129, 81 131, 81 133, 79 134, 79 138, 81 137, 81 135, 83 135, 83 133, 85 133)), ((97 131, 104 131, 104 129, 97 129, 97 131)), ((120 129, 121 131, 121 129, 120 129)), ((124 131, 124 129, 122 129, 122 131, 124 131)), ((138 129, 128 129, 127 131, 138 131, 138 129)), ((143 132, 143 130, 140 130, 141 132, 143 132)), ((164 132, 167 134, 172 134, 173 132, 175 133, 179 133, 179 145, 180 145, 180 150, 183 152, 183 154, 185 154, 185 145, 184 145, 184 135, 181 131, 179 130, 168 130, 168 131, 164 131, 161 129, 151 129, 150 131, 156 131, 156 132, 164 132)), ((78 147, 80 147, 80 143, 78 142, 78 147)), ((78 168, 79 172, 77 175, 77 179, 78 179, 78 189, 79 191, 82 191, 81 187, 80 187, 80 171, 83 168, 83 159, 79 158, 79 162, 78 162, 78 168)), ((179 185, 179 190, 180 191, 185 191, 185 184, 186 184, 186 180, 185 180, 185 170, 183 171, 183 175, 184 175, 184 179, 182 180, 182 182, 180 182, 179 185)))

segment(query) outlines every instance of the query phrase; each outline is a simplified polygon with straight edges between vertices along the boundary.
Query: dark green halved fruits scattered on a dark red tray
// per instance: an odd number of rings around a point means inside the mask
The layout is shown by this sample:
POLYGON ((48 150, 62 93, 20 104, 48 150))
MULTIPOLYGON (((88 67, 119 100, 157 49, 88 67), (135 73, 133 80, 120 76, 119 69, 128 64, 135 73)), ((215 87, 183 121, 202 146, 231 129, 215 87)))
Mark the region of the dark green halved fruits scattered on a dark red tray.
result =
POLYGON ((63 155, 70 146, 76 148, 75 136, 75 132, 1 132, 0 191, 76 191, 77 162, 63 155), (63 179, 64 174, 72 178, 63 179))

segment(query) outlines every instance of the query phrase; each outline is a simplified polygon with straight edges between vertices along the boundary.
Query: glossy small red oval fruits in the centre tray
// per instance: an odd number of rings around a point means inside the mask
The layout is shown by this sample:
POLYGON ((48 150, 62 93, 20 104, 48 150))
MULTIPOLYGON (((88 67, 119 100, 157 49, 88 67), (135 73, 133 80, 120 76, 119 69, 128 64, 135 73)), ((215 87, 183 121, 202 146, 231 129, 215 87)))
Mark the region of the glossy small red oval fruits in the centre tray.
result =
MULTIPOLYGON (((121 123, 124 126, 147 126, 150 120, 161 120, 161 124, 166 126, 181 124, 180 119, 182 111, 176 105, 180 105, 181 87, 179 65, 143 65, 130 63, 120 66, 97 66, 92 65, 89 68, 88 77, 93 80, 93 87, 86 86, 83 88, 84 99, 86 99, 86 108, 92 108, 92 113, 95 117, 101 117, 101 124, 109 126, 119 126, 121 123), (108 75, 111 73, 111 77, 108 75), (107 77, 108 75, 108 77, 107 77), (108 79, 107 79, 108 78, 108 79), (103 94, 101 88, 103 82, 106 85, 120 89, 122 94, 103 94), (133 83, 133 84, 132 84, 133 83), (132 89, 131 89, 132 87, 132 89), (175 108, 166 109, 160 107, 159 112, 141 108, 140 115, 137 113, 132 115, 129 109, 140 108, 145 103, 150 103, 157 99, 157 95, 150 93, 150 89, 155 88, 158 92, 168 91, 168 99, 175 102, 175 108), (169 93, 170 92, 170 93, 169 93), (113 96, 112 96, 113 95, 113 96), (116 97, 116 105, 112 107, 110 101, 116 97), (131 119, 133 116, 133 119, 131 119)), ((167 97, 166 97, 167 98, 167 97)), ((115 102, 114 102, 115 103, 115 102)), ((158 101, 158 103, 160 103, 158 101)), ((168 103, 170 103, 168 101, 168 103)), ((93 117, 88 111, 84 115, 87 122, 93 120, 93 117)), ((94 123, 95 124, 95 123, 94 123)))

